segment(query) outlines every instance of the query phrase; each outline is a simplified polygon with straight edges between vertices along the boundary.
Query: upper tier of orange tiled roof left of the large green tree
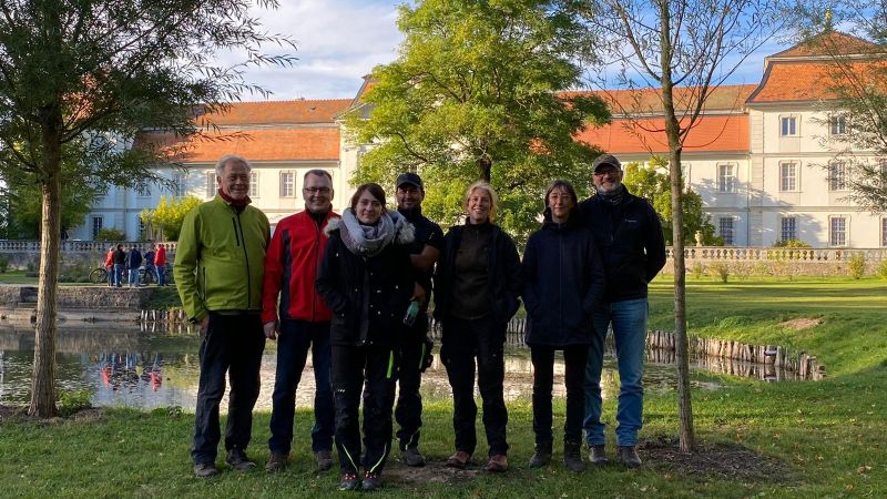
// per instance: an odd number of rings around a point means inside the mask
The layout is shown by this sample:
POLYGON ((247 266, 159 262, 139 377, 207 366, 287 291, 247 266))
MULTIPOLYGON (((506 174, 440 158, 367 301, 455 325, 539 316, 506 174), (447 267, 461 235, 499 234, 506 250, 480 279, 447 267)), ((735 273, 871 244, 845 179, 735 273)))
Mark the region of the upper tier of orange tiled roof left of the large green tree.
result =
POLYGON ((333 116, 350 103, 350 99, 237 102, 226 112, 206 114, 206 118, 220 126, 333 123, 333 116))

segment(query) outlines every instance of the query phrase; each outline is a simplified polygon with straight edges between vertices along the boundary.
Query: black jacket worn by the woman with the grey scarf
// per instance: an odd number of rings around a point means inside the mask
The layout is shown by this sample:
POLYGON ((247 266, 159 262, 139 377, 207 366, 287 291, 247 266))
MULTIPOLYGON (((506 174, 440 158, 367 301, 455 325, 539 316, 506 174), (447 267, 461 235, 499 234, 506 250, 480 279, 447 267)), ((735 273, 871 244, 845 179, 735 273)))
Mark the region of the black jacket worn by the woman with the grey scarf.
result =
MULTIPOLYGON (((332 222, 330 222, 330 225, 332 222)), ((324 257, 317 268, 317 293, 333 310, 333 345, 395 345, 399 324, 414 292, 409 241, 402 237, 376 256, 351 253, 338 228, 329 231, 324 257)))

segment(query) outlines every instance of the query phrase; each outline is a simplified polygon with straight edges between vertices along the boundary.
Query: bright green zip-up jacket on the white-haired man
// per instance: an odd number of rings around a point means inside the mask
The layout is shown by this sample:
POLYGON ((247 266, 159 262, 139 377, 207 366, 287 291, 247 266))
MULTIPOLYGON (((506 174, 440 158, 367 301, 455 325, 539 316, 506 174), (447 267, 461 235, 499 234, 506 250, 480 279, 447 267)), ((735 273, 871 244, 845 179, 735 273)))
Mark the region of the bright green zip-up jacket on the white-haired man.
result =
POLYGON ((182 224, 173 274, 190 319, 210 310, 262 312, 268 218, 246 206, 237 213, 216 195, 182 224))

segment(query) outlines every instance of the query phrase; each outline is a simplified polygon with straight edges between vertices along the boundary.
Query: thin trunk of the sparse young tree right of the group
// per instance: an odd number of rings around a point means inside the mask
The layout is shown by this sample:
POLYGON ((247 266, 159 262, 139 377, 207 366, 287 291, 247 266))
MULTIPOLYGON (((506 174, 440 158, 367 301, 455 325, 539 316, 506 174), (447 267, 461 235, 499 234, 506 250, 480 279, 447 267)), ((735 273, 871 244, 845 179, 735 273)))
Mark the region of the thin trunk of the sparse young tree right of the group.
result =
POLYGON ((677 420, 679 446, 682 452, 695 447, 693 435, 693 404, 690 391, 690 348, 686 338, 686 266, 684 264, 684 181, 681 174, 681 123, 674 111, 674 80, 672 62, 674 48, 671 44, 671 2, 663 0, 660 7, 662 45, 662 106, 665 112, 665 135, 669 138, 669 173, 672 187, 672 253, 674 261, 674 337, 677 360, 677 420))

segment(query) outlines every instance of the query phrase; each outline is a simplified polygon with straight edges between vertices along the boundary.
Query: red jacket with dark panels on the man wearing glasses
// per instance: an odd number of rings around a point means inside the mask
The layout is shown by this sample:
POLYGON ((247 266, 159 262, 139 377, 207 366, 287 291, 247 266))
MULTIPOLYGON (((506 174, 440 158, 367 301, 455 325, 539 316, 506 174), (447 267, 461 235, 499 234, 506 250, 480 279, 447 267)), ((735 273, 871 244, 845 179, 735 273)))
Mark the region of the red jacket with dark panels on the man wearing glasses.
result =
POLYGON ((317 293, 314 282, 324 257, 327 237, 324 227, 339 215, 332 211, 320 225, 308 211, 289 215, 277 223, 265 255, 265 278, 262 284, 262 322, 279 318, 329 322, 332 312, 317 293))

